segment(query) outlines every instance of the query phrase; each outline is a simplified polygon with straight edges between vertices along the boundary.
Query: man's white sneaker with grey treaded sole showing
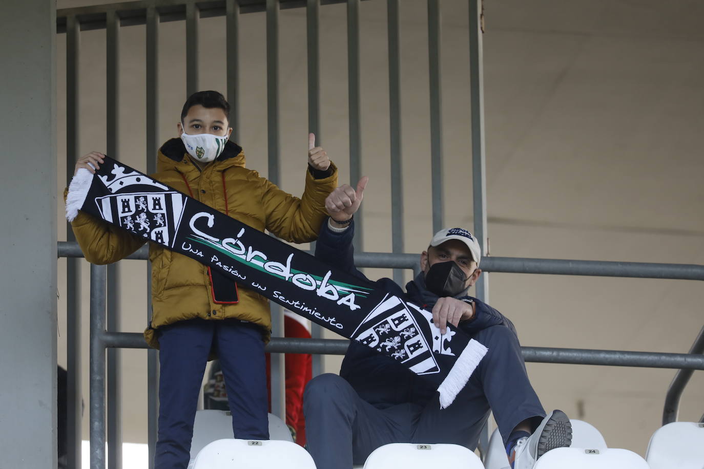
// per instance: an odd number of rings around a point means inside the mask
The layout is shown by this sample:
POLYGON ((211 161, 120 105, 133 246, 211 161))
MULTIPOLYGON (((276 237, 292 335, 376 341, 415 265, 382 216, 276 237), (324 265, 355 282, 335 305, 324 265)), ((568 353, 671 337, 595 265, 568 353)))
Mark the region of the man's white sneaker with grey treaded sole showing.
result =
POLYGON ((509 456, 513 469, 532 469, 535 462, 551 449, 570 446, 572 423, 562 411, 552 411, 530 437, 519 439, 509 456))

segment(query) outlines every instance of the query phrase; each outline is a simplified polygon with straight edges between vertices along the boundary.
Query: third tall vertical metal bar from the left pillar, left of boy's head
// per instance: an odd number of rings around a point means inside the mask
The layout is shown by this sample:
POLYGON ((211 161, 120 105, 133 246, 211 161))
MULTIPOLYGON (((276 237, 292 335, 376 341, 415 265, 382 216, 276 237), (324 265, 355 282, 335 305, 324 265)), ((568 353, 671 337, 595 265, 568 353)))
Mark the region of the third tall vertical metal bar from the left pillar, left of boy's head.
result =
MULTIPOLYGON (((156 7, 146 9, 146 172, 156 172, 156 152, 160 142, 158 114, 158 37, 159 13, 156 7)), ((151 321, 151 264, 146 266, 146 319, 151 321)), ((146 402, 147 402, 147 446, 149 469, 154 468, 154 453, 158 434, 158 396, 159 396, 159 356, 158 351, 146 352, 146 402)))

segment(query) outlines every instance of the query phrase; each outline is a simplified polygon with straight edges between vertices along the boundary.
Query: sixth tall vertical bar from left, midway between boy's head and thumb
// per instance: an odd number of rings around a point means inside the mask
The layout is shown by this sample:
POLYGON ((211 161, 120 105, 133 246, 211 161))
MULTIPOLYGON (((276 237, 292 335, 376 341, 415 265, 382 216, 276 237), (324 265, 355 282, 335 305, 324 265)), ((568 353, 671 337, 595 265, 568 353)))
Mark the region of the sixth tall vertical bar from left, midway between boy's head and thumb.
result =
MULTIPOLYGON (((267 65, 267 124, 268 177, 280 184, 279 149, 279 0, 266 0, 266 65, 267 65)), ((272 335, 284 336, 284 312, 271 305, 272 335)), ((284 397, 284 354, 271 354, 271 411, 286 419, 284 397)))

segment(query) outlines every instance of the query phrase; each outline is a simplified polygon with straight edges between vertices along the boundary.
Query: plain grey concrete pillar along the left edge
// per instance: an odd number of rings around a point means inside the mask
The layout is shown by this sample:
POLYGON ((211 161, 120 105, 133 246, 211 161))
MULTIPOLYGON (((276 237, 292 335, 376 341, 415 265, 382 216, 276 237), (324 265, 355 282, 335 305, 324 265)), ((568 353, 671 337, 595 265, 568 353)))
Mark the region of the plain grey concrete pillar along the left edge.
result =
POLYGON ((0 15, 0 468, 56 468, 56 2, 0 15))

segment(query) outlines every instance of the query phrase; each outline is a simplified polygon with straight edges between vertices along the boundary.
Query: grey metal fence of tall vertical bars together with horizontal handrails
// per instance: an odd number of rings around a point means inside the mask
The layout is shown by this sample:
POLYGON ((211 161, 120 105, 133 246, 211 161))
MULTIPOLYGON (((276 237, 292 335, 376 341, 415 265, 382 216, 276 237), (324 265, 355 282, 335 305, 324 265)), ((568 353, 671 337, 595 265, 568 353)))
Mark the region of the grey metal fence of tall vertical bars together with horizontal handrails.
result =
MULTIPOLYGON (((381 0, 379 0, 381 1, 381 0)), ((482 4, 479 0, 467 0, 470 24, 470 77, 467 77, 471 98, 472 124, 472 180, 474 234, 482 246, 486 246, 486 181, 484 160, 484 101, 482 72, 482 4)), ((106 116, 108 154, 118 155, 118 41, 120 27, 146 25, 146 154, 155 155, 158 149, 158 28, 160 23, 185 21, 187 92, 199 89, 196 53, 198 47, 199 18, 226 17, 227 30, 227 98, 232 105, 235 133, 239 134, 239 94, 237 32, 241 14, 264 11, 266 15, 266 63, 267 63, 267 115, 268 115, 268 177, 279 182, 279 9, 306 8, 308 51, 308 128, 320 131, 320 7, 327 4, 346 3, 348 26, 348 103, 349 103, 349 158, 351 180, 361 176, 361 132, 360 132, 360 48, 359 5, 360 0, 139 0, 120 4, 106 4, 57 11, 57 31, 65 33, 66 41, 66 163, 67 175, 73 174, 78 150, 78 63, 80 60, 80 32, 84 30, 106 30, 106 116)), ((399 53, 399 0, 386 0, 388 13, 389 51, 389 124, 391 154, 391 200, 396 207, 392 211, 392 252, 363 252, 362 240, 356 240, 356 263, 362 267, 384 267, 394 269, 394 280, 401 281, 401 269, 417 272, 417 255, 404 253, 402 210, 402 158, 401 158, 401 98, 400 98, 400 53, 399 53)), ((429 45, 429 102, 432 159, 432 225, 434 231, 444 225, 442 214, 442 123, 441 123, 441 68, 440 68, 440 2, 427 0, 428 45, 429 45)), ((148 158, 146 171, 156 170, 156 158, 148 158)), ((363 224, 358 214, 358 227, 363 224)), ((361 233, 361 229, 359 232, 361 233)), ((146 259, 146 247, 128 257, 146 259)), ((82 257, 80 248, 68 229, 68 241, 58 244, 58 256, 67 257, 67 307, 68 307, 68 447, 69 467, 80 467, 80 317, 78 311, 78 266, 77 257, 82 257)), ((147 267, 149 269, 149 267, 147 267)), ((584 276, 617 276, 636 278, 674 278, 704 280, 704 266, 683 264, 646 264, 630 262, 593 262, 558 259, 522 259, 509 257, 486 257, 482 259, 486 272, 513 272, 523 274, 560 274, 584 276)), ((139 333, 121 333, 117 328, 117 285, 115 266, 91 266, 90 276, 90 458, 91 468, 120 467, 120 409, 117 393, 120 377, 117 358, 111 354, 115 348, 146 348, 139 333), (107 399, 106 399, 107 397, 107 399), (108 408, 106 409, 106 402, 108 408), (107 441, 106 441, 107 440, 107 441), (106 457, 106 442, 108 456, 106 457)), ((148 278, 151 278, 148 276, 148 278)), ((477 297, 486 300, 489 276, 482 276, 476 285, 477 297)), ((146 307, 151 310, 150 305, 146 307)), ((147 312, 149 316, 149 312, 147 312)), ((344 354, 346 340, 320 339, 320 329, 313 331, 310 340, 272 338, 268 352, 291 352, 311 354, 344 354)), ((545 347, 522 347, 524 359, 543 363, 593 364, 609 366, 642 366, 655 368, 679 368, 667 395, 664 423, 677 418, 679 396, 693 370, 704 370, 704 328, 693 345, 690 354, 663 354, 654 352, 624 352, 617 350, 558 349, 545 347)), ((148 352, 148 422, 149 458, 153 467, 153 448, 156 444, 156 418, 158 412, 158 362, 155 350, 148 352)), ((272 379, 282 371, 272 370, 272 379)), ((319 368, 319 367, 318 367, 319 368)), ((278 378, 280 379, 280 378, 278 378)), ((279 383, 280 384, 280 383, 279 383)), ((272 389, 276 389, 272 385, 272 389)), ((281 409, 279 409, 280 411, 281 409)), ((486 445, 484 433, 482 444, 486 445)))

